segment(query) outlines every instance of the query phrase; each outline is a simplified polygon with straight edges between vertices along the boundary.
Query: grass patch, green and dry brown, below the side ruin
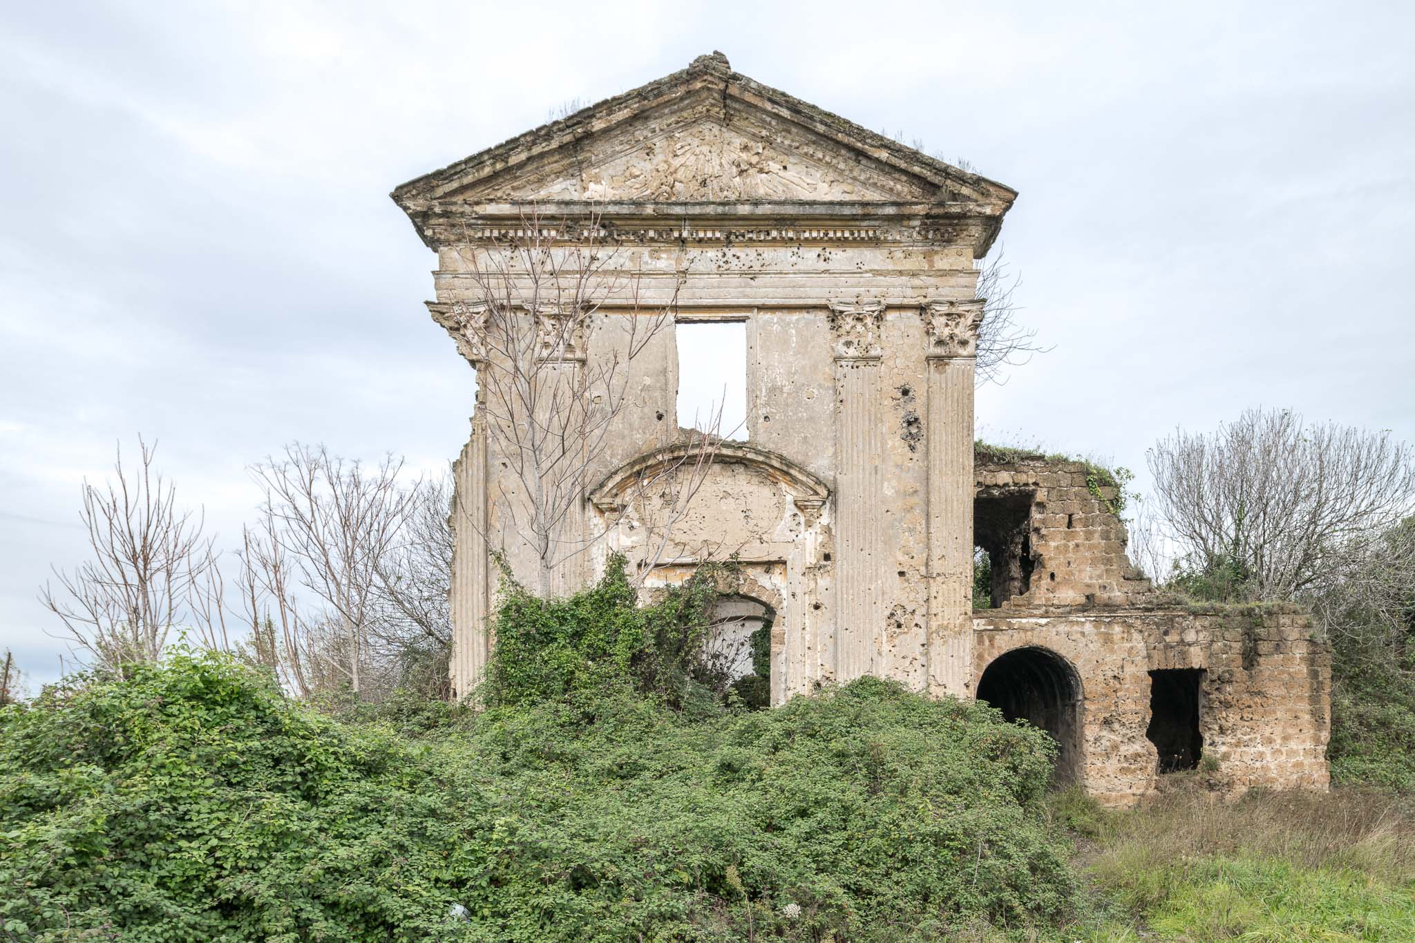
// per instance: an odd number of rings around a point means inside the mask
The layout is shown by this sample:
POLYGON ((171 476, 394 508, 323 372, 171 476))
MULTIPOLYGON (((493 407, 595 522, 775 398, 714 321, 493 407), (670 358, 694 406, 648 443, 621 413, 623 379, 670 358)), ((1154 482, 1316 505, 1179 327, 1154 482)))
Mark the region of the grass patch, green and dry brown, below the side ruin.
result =
POLYGON ((1415 940, 1415 816, 1375 790, 1184 783, 1131 812, 1050 800, 1077 837, 1092 910, 1057 940, 1415 940))

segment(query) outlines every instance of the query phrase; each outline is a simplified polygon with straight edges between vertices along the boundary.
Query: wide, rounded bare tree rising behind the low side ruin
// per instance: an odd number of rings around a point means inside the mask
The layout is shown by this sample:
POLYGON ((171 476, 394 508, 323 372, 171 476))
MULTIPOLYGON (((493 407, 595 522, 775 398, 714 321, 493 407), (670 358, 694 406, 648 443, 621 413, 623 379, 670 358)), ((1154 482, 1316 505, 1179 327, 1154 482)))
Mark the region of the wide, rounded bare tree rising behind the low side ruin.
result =
POLYGON ((1415 452, 1388 431, 1248 410, 1217 433, 1176 430, 1146 452, 1180 556, 1227 566, 1245 594, 1292 599, 1336 578, 1409 513, 1415 452))

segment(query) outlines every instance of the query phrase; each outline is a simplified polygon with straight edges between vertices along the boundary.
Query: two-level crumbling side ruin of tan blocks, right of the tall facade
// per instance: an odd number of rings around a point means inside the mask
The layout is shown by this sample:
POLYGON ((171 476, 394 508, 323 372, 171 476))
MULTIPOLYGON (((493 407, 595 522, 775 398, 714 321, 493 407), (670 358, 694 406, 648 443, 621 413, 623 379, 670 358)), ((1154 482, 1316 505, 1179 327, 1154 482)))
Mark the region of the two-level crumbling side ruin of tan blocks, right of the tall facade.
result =
POLYGON ((1063 780, 1122 806, 1189 771, 1223 793, 1326 789, 1332 660, 1305 609, 1156 592, 1125 556, 1116 484, 1087 462, 979 447, 975 478, 996 608, 974 612, 971 691, 1036 689, 998 700, 1073 738, 1063 780))

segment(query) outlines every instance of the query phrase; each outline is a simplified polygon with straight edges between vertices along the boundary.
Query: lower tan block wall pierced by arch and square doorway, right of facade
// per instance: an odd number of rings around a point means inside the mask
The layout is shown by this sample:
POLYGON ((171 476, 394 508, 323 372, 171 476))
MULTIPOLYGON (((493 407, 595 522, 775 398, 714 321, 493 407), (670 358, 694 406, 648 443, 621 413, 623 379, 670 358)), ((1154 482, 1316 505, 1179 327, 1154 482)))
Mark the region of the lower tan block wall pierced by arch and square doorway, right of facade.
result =
POLYGON ((1201 672, 1196 775, 1213 787, 1327 787, 1332 663, 1298 608, 990 611, 975 615, 974 629, 972 690, 1016 649, 1046 649, 1074 667, 1078 779, 1108 804, 1132 804, 1159 785, 1160 756, 1146 730, 1149 673, 1163 669, 1201 672))

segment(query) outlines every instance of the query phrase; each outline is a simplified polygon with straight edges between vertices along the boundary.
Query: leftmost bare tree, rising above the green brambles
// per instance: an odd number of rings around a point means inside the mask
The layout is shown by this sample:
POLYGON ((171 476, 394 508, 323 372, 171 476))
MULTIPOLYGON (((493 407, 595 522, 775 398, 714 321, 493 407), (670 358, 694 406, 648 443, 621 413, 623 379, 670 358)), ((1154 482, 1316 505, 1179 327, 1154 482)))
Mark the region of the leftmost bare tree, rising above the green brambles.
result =
POLYGON ((54 570, 40 601, 65 636, 100 667, 156 662, 173 628, 191 616, 194 594, 214 566, 202 516, 180 510, 171 482, 153 471, 156 445, 139 437, 137 468, 123 465, 103 488, 83 482, 79 520, 92 558, 71 574, 54 570))

